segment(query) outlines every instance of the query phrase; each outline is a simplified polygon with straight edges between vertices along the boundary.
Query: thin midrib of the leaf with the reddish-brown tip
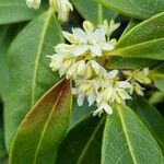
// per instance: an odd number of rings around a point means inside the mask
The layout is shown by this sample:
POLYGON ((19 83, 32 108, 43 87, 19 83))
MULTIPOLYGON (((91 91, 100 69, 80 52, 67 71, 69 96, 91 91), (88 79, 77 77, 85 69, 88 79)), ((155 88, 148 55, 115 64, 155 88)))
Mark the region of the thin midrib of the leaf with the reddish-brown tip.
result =
POLYGON ((49 121, 50 121, 50 118, 51 118, 51 116, 52 116, 52 114, 54 114, 54 110, 56 109, 56 106, 57 106, 57 104, 58 104, 58 102, 59 102, 59 99, 60 99, 60 97, 61 97, 61 95, 62 95, 62 92, 63 92, 65 87, 66 87, 66 84, 61 87, 61 91, 59 92, 58 97, 57 97, 57 99, 56 99, 56 103, 55 103, 55 105, 52 106, 52 109, 51 109, 51 112, 50 112, 50 114, 49 114, 49 116, 48 116, 48 119, 47 119, 47 121, 46 121, 46 124, 45 124, 45 126, 44 126, 44 129, 43 129, 43 131, 42 131, 40 139, 39 139, 38 144, 37 144, 37 148, 36 148, 36 153, 35 153, 35 156, 34 156, 34 164, 36 164, 37 154, 38 154, 38 152, 39 152, 39 148, 40 148, 43 138, 44 138, 44 136, 45 136, 45 132, 46 132, 46 129, 47 129, 48 124, 49 124, 49 121))

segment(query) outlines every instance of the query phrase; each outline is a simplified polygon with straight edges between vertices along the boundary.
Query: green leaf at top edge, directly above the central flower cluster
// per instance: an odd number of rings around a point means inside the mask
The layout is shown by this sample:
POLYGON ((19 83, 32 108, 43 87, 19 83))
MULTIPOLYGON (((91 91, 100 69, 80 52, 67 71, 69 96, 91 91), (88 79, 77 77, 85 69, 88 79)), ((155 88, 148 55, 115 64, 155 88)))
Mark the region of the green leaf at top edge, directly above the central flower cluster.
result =
POLYGON ((91 21, 95 25, 102 21, 116 19, 117 14, 108 9, 101 7, 97 0, 71 0, 84 20, 91 21))

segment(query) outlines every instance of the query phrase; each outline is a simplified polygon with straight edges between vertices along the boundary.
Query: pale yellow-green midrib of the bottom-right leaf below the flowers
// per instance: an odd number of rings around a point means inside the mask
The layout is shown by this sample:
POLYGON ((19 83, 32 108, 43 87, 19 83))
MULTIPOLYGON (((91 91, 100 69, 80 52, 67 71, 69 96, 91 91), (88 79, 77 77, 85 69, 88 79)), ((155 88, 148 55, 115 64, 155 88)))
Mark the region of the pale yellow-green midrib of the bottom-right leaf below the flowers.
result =
POLYGON ((124 119, 124 116, 122 116, 122 113, 121 113, 121 108, 119 108, 118 106, 116 107, 117 109, 117 113, 118 113, 118 116, 120 118, 120 122, 121 122, 121 128, 122 128, 122 132, 125 133, 125 138, 126 138, 126 141, 127 141, 127 145, 128 145, 128 149, 129 149, 129 153, 131 155, 131 160, 133 162, 133 164, 138 164, 137 160, 136 160, 136 155, 133 153, 133 148, 131 147, 131 141, 130 141, 130 137, 128 134, 128 130, 126 128, 126 122, 125 122, 125 119, 124 119))

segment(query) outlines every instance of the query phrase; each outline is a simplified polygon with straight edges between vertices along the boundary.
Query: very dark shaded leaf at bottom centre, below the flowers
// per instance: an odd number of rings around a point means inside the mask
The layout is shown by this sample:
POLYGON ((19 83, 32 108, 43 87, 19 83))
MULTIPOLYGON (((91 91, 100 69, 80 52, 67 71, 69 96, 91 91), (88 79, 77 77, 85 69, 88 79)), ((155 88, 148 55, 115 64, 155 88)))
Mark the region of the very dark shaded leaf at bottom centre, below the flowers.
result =
POLYGON ((104 118, 87 117, 66 136, 57 164, 99 164, 104 118))

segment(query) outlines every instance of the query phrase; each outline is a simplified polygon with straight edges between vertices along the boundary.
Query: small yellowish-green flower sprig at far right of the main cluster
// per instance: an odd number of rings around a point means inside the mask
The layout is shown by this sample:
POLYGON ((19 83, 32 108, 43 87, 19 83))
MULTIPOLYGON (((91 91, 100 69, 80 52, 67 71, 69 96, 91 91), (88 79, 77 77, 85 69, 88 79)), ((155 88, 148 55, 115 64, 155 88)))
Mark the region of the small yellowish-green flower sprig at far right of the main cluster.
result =
POLYGON ((150 84, 151 80, 149 79, 149 68, 144 68, 143 70, 134 70, 134 71, 122 71, 122 73, 128 78, 129 82, 131 83, 131 89, 129 93, 132 94, 136 92, 139 95, 143 96, 143 90, 140 85, 141 84, 150 84))

